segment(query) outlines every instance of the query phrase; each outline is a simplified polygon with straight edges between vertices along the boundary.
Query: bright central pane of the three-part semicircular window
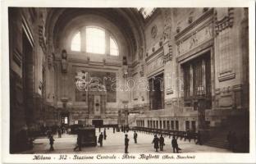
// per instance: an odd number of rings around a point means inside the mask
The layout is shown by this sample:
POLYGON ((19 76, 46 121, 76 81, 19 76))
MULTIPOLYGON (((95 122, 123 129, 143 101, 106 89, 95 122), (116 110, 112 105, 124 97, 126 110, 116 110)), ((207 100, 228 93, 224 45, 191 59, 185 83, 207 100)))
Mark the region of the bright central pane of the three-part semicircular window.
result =
POLYGON ((105 31, 86 27, 86 52, 104 54, 106 49, 105 31))

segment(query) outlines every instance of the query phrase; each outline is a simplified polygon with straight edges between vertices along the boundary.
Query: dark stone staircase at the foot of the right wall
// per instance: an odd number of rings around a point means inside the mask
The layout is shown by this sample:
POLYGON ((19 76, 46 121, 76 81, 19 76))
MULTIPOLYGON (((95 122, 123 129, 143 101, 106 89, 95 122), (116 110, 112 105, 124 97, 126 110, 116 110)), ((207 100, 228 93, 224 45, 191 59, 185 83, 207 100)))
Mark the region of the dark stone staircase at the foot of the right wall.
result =
POLYGON ((226 140, 227 132, 216 132, 217 134, 213 138, 208 139, 204 145, 216 147, 216 148, 226 148, 228 149, 228 142, 226 140))

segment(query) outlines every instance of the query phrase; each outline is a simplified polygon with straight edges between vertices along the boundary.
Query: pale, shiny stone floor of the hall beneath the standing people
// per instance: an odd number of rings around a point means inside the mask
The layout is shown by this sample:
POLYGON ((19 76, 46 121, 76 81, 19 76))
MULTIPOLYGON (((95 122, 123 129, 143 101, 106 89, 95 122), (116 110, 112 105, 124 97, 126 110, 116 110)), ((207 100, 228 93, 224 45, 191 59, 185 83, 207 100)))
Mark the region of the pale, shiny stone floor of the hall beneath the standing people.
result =
MULTIPOLYGON (((133 139, 133 131, 129 131, 128 138, 130 139, 129 153, 155 153, 153 149, 153 135, 138 133, 138 144, 135 144, 133 139)), ((98 136, 98 130, 96 130, 98 136)), ((23 153, 74 153, 73 148, 76 144, 76 135, 62 134, 62 138, 57 138, 54 135, 55 142, 53 144, 54 151, 50 152, 48 138, 39 138, 34 140, 34 148, 23 153)), ((125 134, 123 132, 116 132, 113 134, 112 129, 107 130, 107 139, 103 140, 103 147, 84 147, 82 151, 75 153, 124 153, 125 134)), ((162 152, 158 153, 172 153, 171 139, 165 138, 165 147, 162 152)), ((181 153, 230 153, 229 150, 222 148, 213 148, 205 145, 196 145, 194 140, 178 139, 179 147, 182 149, 181 153)))

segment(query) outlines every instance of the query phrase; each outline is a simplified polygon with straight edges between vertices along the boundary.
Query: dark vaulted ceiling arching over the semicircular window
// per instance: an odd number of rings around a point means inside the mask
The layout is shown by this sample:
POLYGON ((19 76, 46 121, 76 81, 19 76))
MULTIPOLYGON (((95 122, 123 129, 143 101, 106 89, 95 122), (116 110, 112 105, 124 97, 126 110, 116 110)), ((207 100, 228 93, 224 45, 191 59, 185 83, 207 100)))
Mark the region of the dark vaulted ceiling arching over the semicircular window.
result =
POLYGON ((49 44, 55 49, 58 48, 58 34, 69 22, 86 15, 101 16, 117 26, 129 44, 127 46, 132 55, 145 47, 144 18, 135 8, 51 8, 46 20, 49 44))

